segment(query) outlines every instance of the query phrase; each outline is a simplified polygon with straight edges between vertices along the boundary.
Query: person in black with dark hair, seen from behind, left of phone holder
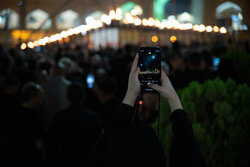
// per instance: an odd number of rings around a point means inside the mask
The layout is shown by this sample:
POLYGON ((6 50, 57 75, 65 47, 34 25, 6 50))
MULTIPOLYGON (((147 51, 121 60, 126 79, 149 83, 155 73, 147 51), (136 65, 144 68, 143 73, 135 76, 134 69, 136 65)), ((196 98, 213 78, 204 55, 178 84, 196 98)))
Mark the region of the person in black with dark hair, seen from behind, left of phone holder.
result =
POLYGON ((70 106, 58 112, 48 131, 46 166, 85 166, 88 154, 102 132, 101 121, 84 108, 80 83, 67 89, 70 106))

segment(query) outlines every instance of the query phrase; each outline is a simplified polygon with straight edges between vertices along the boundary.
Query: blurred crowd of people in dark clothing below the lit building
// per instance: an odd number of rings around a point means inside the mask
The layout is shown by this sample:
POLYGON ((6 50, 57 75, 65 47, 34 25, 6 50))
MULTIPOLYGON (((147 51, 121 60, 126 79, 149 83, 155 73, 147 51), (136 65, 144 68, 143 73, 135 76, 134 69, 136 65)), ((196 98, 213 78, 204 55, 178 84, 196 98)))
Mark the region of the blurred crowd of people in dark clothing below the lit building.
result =
MULTIPOLYGON (((83 166, 126 94, 139 47, 1 46, 1 166, 83 166)), ((176 42, 162 47, 162 70, 182 89, 221 74, 214 58, 226 50, 176 42)))

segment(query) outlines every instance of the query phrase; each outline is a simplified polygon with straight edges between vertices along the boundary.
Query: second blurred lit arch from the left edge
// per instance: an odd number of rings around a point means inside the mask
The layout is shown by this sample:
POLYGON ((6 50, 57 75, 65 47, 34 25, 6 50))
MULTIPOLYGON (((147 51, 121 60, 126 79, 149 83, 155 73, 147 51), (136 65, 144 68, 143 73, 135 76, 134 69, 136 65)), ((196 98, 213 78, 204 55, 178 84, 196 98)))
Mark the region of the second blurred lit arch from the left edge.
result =
POLYGON ((25 17, 25 25, 27 29, 49 29, 51 27, 51 19, 49 19, 47 12, 35 9, 25 17))

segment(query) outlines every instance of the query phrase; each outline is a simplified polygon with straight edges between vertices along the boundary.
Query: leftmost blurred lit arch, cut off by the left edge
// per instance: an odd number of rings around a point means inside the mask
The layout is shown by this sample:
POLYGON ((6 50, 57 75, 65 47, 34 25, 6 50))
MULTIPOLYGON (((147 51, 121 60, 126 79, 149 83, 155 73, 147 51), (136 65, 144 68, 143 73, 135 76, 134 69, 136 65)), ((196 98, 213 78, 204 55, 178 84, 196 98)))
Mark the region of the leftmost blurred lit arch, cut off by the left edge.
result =
POLYGON ((15 29, 19 26, 19 15, 12 9, 0 11, 0 28, 15 29))

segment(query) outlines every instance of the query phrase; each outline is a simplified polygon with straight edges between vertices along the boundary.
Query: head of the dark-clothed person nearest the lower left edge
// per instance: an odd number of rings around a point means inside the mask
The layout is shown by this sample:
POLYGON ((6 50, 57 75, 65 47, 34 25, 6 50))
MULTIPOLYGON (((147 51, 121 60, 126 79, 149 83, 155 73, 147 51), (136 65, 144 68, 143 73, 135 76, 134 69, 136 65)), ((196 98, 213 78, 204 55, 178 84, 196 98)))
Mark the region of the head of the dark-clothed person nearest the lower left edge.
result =
POLYGON ((43 89, 39 84, 29 82, 21 90, 21 102, 31 109, 37 109, 43 100, 43 89))

